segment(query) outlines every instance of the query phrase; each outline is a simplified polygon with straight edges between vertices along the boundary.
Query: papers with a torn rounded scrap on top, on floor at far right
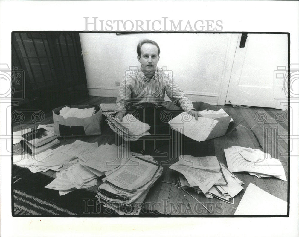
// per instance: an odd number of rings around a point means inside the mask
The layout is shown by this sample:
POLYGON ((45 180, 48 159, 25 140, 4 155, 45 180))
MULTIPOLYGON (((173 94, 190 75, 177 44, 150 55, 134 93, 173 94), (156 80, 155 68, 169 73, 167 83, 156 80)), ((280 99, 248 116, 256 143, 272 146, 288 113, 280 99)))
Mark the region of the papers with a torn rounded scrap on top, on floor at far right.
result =
POLYGON ((231 172, 247 171, 258 178, 274 176, 286 181, 280 160, 272 158, 259 149, 232 146, 224 149, 228 169, 231 172))

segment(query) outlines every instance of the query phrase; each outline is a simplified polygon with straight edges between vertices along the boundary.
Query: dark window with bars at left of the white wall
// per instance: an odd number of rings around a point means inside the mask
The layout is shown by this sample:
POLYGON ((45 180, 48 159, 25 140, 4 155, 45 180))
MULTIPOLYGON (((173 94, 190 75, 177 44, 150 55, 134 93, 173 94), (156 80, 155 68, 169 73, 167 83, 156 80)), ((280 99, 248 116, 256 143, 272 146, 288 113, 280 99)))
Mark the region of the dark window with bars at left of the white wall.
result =
POLYGON ((24 94, 20 104, 51 110, 88 97, 78 33, 13 32, 12 37, 13 68, 24 71, 13 94, 24 94))

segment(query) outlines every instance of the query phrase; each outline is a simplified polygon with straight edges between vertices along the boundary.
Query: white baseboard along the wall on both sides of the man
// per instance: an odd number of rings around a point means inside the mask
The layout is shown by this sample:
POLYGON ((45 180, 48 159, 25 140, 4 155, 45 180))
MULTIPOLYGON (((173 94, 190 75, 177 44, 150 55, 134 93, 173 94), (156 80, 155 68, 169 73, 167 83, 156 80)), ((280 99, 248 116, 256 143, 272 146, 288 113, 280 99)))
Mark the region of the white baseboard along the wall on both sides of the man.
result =
MULTIPOLYGON (((118 97, 119 87, 88 87, 88 94, 91 96, 104 96, 104 97, 118 97)), ((202 101, 211 105, 216 105, 218 102, 219 94, 210 92, 199 91, 184 91, 190 101, 202 101)), ((170 99, 165 96, 166 101, 170 99)))

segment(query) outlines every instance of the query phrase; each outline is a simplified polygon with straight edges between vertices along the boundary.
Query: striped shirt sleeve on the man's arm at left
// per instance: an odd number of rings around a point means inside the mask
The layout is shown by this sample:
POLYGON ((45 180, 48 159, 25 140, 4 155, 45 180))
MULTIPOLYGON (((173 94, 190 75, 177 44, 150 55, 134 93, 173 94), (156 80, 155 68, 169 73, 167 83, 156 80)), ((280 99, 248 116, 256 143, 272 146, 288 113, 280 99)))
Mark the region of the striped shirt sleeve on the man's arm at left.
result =
POLYGON ((132 90, 129 86, 129 79, 126 77, 126 74, 123 76, 123 80, 120 83, 119 95, 116 100, 115 113, 122 112, 123 115, 126 114, 127 109, 129 108, 129 103, 131 99, 132 90))

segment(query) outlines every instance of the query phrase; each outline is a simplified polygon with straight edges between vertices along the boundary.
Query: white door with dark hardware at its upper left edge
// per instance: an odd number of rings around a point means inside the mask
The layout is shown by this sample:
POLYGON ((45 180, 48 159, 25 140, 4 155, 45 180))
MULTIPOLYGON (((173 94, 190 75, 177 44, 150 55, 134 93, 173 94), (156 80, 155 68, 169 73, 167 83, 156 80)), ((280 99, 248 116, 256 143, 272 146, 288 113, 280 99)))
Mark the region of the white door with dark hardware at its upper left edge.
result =
POLYGON ((281 93, 288 66, 287 35, 248 34, 245 47, 240 48, 241 35, 225 103, 279 108, 280 102, 287 98, 286 93, 281 93))

